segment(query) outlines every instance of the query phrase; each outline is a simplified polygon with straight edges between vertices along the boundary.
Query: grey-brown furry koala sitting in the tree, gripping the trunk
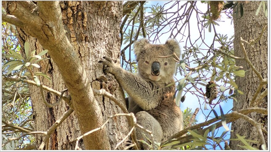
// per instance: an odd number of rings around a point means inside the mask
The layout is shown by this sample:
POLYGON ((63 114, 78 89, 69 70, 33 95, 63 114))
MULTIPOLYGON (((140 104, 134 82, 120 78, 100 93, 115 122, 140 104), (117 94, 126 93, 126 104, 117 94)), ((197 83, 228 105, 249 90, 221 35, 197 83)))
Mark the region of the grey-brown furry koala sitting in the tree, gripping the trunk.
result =
MULTIPOLYGON (((128 93, 128 111, 136 116, 137 123, 153 132, 156 142, 167 140, 172 135, 183 130, 183 115, 174 100, 175 84, 173 74, 176 68, 174 57, 180 57, 179 43, 173 39, 165 44, 150 44, 147 39, 134 43, 134 53, 138 62, 138 74, 125 71, 110 57, 103 57, 99 62, 107 65, 105 72, 115 76, 121 87, 128 93)), ((148 134, 136 129, 137 138, 147 141, 142 134, 148 134)), ((141 145, 141 149, 147 149, 141 145)))

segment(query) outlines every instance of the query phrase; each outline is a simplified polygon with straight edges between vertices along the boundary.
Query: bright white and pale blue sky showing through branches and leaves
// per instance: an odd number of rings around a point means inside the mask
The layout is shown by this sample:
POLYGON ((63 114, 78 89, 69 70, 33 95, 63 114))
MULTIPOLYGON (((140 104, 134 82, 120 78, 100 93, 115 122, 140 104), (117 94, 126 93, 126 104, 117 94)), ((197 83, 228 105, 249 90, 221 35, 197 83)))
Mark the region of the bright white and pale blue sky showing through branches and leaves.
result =
MULTIPOLYGON (((148 3, 146 3, 144 6, 146 7, 146 6, 151 6, 151 5, 156 5, 157 3, 159 4, 159 5, 161 5, 161 6, 163 6, 165 3, 167 3, 168 1, 148 1, 148 3)), ((184 4, 186 1, 182 1, 182 2, 180 2, 180 5, 182 5, 182 4, 184 4)), ((165 10, 167 9, 167 8, 169 8, 171 5, 170 4, 168 4, 168 5, 166 5, 165 6, 165 10)), ((206 12, 207 11, 207 4, 204 4, 204 3, 201 3, 200 1, 198 1, 197 3, 196 3, 196 6, 197 6, 197 8, 199 9, 199 10, 201 10, 201 12, 206 12)), ((172 8, 172 11, 171 12, 174 12, 174 11, 176 11, 177 10, 177 7, 174 7, 174 8, 172 8)), ((183 11, 183 10, 181 10, 181 11, 183 11)), ((148 12, 148 11, 147 11, 148 12)), ((182 12, 181 12, 182 13, 182 12)), ((221 14, 221 17, 220 17, 220 21, 217 21, 217 23, 219 24, 219 26, 218 25, 216 25, 216 33, 220 33, 220 34, 223 34, 223 35, 228 35, 228 37, 231 37, 231 36, 233 36, 234 35, 234 29, 233 29, 233 24, 231 25, 231 19, 229 19, 229 18, 227 18, 227 16, 225 15, 225 14, 221 14)), ((192 43, 199 37, 199 35, 200 35, 200 33, 199 33, 199 31, 198 31, 198 27, 197 27, 197 23, 198 21, 197 21, 197 19, 196 19, 196 12, 195 11, 193 11, 193 14, 192 14, 192 16, 191 16, 191 18, 190 18, 190 35, 191 35, 191 41, 192 41, 192 43), (195 30, 193 30, 193 29, 195 29, 195 30)), ((181 26, 182 24, 180 24, 179 26, 181 26)), ((129 28, 131 28, 131 26, 129 27, 129 28)), ((166 27, 166 28, 164 28, 160 33, 164 33, 163 31, 168 31, 168 29, 169 29, 170 27, 166 27)), ((169 34, 170 33, 167 33, 167 34, 164 34, 162 37, 160 37, 160 42, 161 43, 164 43, 168 38, 169 38, 169 34)), ((203 33, 202 33, 203 34, 203 33)), ((187 33, 186 33, 186 35, 187 35, 187 33)), ((177 37, 176 37, 176 40, 178 40, 178 41, 180 41, 181 40, 181 37, 182 37, 182 35, 181 34, 179 34, 179 35, 177 35, 177 37)), ((210 32, 208 32, 208 29, 205 29, 205 40, 204 40, 204 42, 206 43, 206 44, 208 44, 208 45, 211 45, 212 44, 212 41, 213 41, 213 37, 214 37, 214 30, 213 30, 213 28, 212 28, 212 32, 210 33, 210 32)), ((153 37, 151 37, 150 39, 152 40, 152 38, 153 37)), ((184 37, 184 39, 182 40, 182 41, 185 41, 186 40, 186 38, 184 37)), ((197 41, 196 42, 196 44, 199 46, 200 44, 201 44, 201 40, 199 41, 197 41)), ((159 43, 159 42, 157 42, 157 43, 159 43)), ((127 44, 126 44, 127 45, 127 44)), ((123 45, 122 46, 122 48, 121 49, 123 49, 123 47, 124 46, 126 46, 126 45, 123 45)), ((183 46, 185 45, 185 42, 180 42, 180 47, 181 47, 181 49, 182 49, 182 51, 184 51, 184 49, 183 49, 183 46)), ((217 48, 217 47, 219 47, 220 45, 219 45, 219 43, 218 42, 215 42, 215 45, 214 45, 214 47, 215 48, 217 48)), ((209 49, 208 47, 206 47, 206 46, 201 46, 200 47, 201 49, 209 49)), ((202 52, 204 53, 204 50, 202 50, 202 52)), ((183 52, 182 52, 183 53, 183 52)), ((129 49, 127 49, 126 50, 126 57, 129 57, 129 49)), ((131 59, 133 60, 133 59, 135 59, 135 57, 134 57, 134 55, 132 55, 132 57, 131 57, 131 59)), ((193 66, 193 64, 191 64, 191 66, 193 66)), ((184 77, 184 75, 183 76, 180 76, 180 74, 177 74, 177 76, 176 76, 176 78, 178 79, 178 80, 180 80, 180 79, 182 79, 184 77)), ((217 82, 217 84, 219 84, 219 82, 217 82)), ((220 85, 220 84, 219 84, 220 85)), ((203 90, 205 90, 205 86, 201 86, 201 85, 197 85, 197 87, 199 87, 199 88, 202 88, 203 90)), ((184 94, 185 92, 183 92, 183 94, 184 94)), ((192 111, 195 111, 195 109, 197 108, 197 107, 200 107, 200 105, 199 104, 202 104, 201 105, 201 107, 202 107, 202 110, 203 111, 199 111, 199 113, 197 114, 197 116, 196 116, 196 119, 198 120, 198 122, 197 123, 202 123, 202 122, 205 122, 205 119, 206 119, 206 117, 203 115, 203 113, 205 114, 205 115, 208 115, 209 114, 209 112, 211 111, 211 109, 210 109, 210 107, 208 106, 208 110, 204 110, 204 101, 203 100, 200 100, 200 103, 198 102, 198 98, 195 96, 195 95, 192 95, 191 93, 186 93, 186 99, 185 99, 185 101, 184 101, 184 103, 181 103, 181 106, 180 106, 180 109, 182 110, 182 111, 184 111, 187 107, 189 107, 189 108, 192 108, 192 111)), ((217 98, 217 99, 219 99, 219 98, 217 98)), ((216 103, 216 101, 217 101, 217 99, 215 100, 215 101, 213 101, 213 103, 216 103)), ((226 102, 221 102, 220 103, 220 106, 222 107, 222 109, 223 109, 223 111, 224 111, 224 113, 227 113, 230 109, 232 109, 232 107, 233 107, 233 101, 232 100, 228 100, 227 101, 227 103, 226 102)), ((217 114, 218 115, 220 115, 220 109, 219 109, 219 105, 217 105, 215 108, 214 108, 214 110, 217 112, 217 114)), ((208 118, 208 120, 209 119, 212 119, 212 118, 214 118, 214 115, 213 115, 213 113, 211 113, 210 114, 210 116, 209 116, 209 118, 208 118)), ((229 125, 229 128, 231 127, 231 125, 229 125)), ((221 134, 223 131, 225 131, 225 129, 223 128, 223 127, 221 127, 219 130, 218 130, 218 134, 217 135, 219 135, 219 134, 221 134)), ((228 139, 229 138, 229 135, 227 135, 227 137, 226 137, 226 139, 228 139)), ((221 143, 222 144, 222 146, 224 147, 224 143, 221 143)))

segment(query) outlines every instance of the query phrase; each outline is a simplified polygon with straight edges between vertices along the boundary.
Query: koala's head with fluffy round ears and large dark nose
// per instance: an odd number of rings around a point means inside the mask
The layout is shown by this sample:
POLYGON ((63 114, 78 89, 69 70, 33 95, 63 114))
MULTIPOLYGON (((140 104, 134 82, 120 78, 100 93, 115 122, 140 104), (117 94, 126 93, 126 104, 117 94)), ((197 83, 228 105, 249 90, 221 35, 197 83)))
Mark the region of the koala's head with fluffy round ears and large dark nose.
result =
POLYGON ((166 41, 165 44, 150 44, 147 39, 135 42, 134 52, 138 61, 139 74, 149 80, 169 83, 175 72, 176 62, 170 56, 176 53, 180 57, 179 43, 173 39, 166 41))

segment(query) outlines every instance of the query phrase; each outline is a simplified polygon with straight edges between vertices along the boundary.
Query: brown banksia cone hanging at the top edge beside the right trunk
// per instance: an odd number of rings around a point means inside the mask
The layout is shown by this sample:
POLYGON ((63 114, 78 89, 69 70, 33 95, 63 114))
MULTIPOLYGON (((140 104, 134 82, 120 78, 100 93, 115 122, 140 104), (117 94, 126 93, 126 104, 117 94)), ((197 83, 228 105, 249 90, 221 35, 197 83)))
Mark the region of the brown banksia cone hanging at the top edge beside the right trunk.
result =
POLYGON ((220 13, 223 9, 224 2, 223 1, 209 1, 210 12, 212 13, 211 19, 217 20, 220 18, 220 13))

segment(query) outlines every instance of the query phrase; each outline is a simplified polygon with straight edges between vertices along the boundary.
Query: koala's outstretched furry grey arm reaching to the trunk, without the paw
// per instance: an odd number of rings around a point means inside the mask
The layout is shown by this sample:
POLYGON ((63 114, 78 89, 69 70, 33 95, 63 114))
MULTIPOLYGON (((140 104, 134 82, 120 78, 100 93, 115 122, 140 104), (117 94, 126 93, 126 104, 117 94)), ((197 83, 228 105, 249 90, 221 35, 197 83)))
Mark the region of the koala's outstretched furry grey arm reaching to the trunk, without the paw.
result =
POLYGON ((143 110, 157 107, 160 97, 157 92, 152 91, 152 84, 122 68, 112 68, 109 72, 143 110))

